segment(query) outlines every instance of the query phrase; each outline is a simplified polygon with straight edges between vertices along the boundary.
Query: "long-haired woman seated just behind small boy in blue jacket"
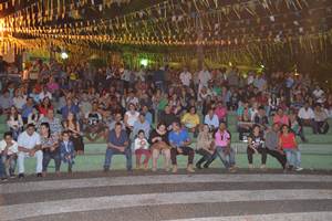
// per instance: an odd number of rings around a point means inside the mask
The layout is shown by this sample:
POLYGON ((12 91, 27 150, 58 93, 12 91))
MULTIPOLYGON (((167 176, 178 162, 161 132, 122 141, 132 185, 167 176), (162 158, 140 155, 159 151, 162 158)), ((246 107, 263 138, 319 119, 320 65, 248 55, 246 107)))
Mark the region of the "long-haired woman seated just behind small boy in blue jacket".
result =
POLYGON ((81 135, 81 126, 73 113, 70 112, 68 114, 66 120, 63 122, 63 128, 70 133, 71 140, 74 144, 75 152, 77 155, 84 154, 84 143, 81 135))

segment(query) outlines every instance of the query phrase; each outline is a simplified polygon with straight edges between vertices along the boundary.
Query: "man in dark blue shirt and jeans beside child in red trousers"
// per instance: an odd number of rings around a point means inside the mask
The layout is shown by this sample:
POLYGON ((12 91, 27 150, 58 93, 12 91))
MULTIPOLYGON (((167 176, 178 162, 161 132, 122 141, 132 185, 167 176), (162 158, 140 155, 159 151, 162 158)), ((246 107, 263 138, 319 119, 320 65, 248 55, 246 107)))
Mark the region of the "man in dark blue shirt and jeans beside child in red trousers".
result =
POLYGON ((116 123, 115 128, 110 131, 104 164, 105 172, 110 170, 113 155, 125 155, 127 170, 132 170, 132 149, 129 147, 129 139, 126 130, 122 128, 122 124, 116 123))

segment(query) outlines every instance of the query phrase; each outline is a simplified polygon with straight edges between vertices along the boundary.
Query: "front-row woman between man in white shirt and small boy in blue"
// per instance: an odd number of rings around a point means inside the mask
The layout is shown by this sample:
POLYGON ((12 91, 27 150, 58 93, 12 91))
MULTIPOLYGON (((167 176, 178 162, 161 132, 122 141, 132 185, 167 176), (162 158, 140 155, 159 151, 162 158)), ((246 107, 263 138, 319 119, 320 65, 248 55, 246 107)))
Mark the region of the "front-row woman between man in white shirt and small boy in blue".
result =
POLYGON ((59 151, 59 137, 52 135, 49 123, 40 125, 41 148, 43 150, 43 173, 46 176, 48 167, 51 159, 54 159, 55 172, 60 175, 61 158, 59 151))

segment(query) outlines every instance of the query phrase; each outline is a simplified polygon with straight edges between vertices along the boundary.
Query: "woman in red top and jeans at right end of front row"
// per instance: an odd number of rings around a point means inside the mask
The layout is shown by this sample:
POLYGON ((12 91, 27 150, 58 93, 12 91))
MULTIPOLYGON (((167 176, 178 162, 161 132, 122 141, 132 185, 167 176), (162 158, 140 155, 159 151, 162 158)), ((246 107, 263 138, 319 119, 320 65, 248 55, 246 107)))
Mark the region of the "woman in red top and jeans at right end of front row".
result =
POLYGON ((295 135, 290 131, 288 125, 281 127, 281 135, 279 138, 279 148, 283 150, 287 158, 288 169, 293 169, 301 171, 303 168, 301 165, 301 152, 295 140, 295 135))

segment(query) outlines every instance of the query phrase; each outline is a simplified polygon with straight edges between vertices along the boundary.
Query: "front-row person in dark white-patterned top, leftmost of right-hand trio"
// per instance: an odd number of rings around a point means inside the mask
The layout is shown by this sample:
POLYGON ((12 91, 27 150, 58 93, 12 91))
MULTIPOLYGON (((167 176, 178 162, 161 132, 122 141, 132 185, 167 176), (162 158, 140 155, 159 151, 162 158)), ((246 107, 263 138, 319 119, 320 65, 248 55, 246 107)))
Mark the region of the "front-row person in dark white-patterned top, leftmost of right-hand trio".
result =
POLYGON ((249 169, 253 168, 252 155, 261 154, 261 169, 266 169, 267 164, 267 148, 263 146, 264 138, 259 125, 255 125, 251 135, 248 137, 247 156, 249 161, 249 169))

